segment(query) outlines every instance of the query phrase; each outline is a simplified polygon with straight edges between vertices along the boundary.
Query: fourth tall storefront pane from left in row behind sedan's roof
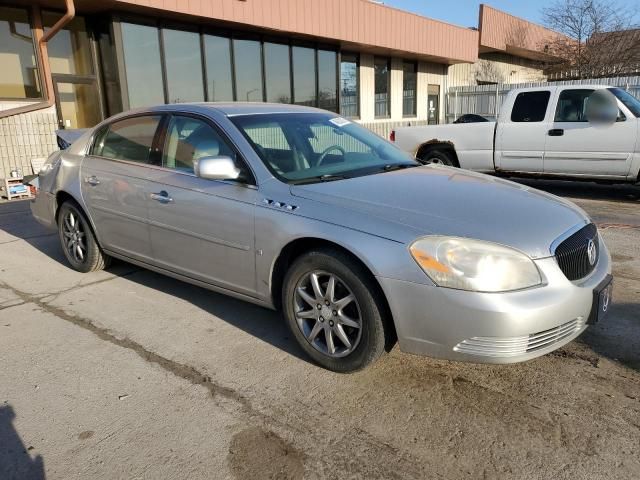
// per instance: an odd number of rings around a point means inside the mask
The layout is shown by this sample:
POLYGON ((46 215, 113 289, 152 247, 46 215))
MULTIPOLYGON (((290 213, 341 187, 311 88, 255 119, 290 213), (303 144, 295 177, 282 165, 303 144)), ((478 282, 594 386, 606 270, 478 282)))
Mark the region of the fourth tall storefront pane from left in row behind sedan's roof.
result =
POLYGON ((233 40, 237 101, 262 102, 261 57, 260 42, 254 40, 233 40))

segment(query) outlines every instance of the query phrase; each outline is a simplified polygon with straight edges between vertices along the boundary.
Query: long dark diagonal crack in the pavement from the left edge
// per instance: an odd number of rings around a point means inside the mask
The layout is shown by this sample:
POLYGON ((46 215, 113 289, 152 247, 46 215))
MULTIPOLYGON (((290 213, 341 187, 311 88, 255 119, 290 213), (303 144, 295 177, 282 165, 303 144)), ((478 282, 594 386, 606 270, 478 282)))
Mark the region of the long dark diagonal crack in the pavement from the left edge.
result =
MULTIPOLYGON (((210 376, 200 372, 199 370, 191 367, 189 365, 185 365, 175 360, 170 360, 165 358, 157 353, 154 353, 150 350, 147 350, 141 344, 127 338, 119 338, 114 335, 110 330, 106 328, 99 327, 95 325, 90 320, 72 315, 66 312, 64 309, 60 307, 55 307, 50 305, 48 302, 43 301, 38 296, 29 294, 27 292, 23 292, 18 290, 11 285, 6 284, 5 282, 0 282, 0 287, 6 288, 12 291, 17 297, 19 297, 23 303, 32 303, 44 310, 45 312, 51 313, 61 320, 65 320, 77 327, 83 328, 94 334, 100 340, 109 342, 113 345, 116 345, 121 348, 126 348, 127 350, 131 350, 135 352, 140 358, 148 363, 153 363, 158 365, 163 370, 175 375, 176 377, 182 378, 193 385, 199 385, 201 387, 206 388, 212 397, 223 397, 228 400, 232 400, 241 405, 241 407, 248 413, 258 414, 253 407, 251 406, 249 400, 245 398, 240 393, 235 390, 224 387, 222 385, 218 385, 214 383, 210 376)), ((259 414, 258 414, 259 415, 259 414)))

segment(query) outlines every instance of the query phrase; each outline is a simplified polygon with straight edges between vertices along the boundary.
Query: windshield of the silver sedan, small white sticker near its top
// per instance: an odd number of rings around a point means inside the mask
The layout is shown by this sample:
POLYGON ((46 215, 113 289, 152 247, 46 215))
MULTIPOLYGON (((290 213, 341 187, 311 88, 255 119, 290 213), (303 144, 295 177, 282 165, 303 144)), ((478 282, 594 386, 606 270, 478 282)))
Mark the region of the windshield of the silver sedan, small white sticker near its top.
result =
POLYGON ((341 180, 419 165, 395 145, 334 114, 239 115, 230 120, 286 183, 341 180))

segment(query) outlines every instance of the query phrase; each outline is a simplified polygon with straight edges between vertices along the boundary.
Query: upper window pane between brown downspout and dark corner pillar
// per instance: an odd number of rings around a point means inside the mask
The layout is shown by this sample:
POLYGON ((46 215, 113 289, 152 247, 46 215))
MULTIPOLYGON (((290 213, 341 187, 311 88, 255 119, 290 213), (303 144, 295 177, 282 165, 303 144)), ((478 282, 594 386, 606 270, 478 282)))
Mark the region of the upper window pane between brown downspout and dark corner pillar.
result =
MULTIPOLYGON (((45 32, 62 18, 62 14, 43 12, 45 32)), ((47 43, 52 73, 92 75, 91 41, 83 17, 74 17, 47 43)))

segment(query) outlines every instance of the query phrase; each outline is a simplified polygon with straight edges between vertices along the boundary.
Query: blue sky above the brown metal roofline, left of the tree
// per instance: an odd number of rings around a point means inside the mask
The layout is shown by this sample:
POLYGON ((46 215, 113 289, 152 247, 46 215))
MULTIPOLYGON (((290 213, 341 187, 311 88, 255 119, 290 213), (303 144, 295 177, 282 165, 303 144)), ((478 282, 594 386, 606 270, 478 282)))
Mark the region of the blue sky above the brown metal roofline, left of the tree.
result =
MULTIPOLYGON (((385 5, 415 12, 425 17, 444 20, 462 27, 477 27, 480 4, 486 3, 498 10, 511 13, 529 21, 542 21, 541 9, 551 5, 554 0, 384 0, 385 5)), ((624 6, 640 5, 638 0, 612 0, 624 6)))

